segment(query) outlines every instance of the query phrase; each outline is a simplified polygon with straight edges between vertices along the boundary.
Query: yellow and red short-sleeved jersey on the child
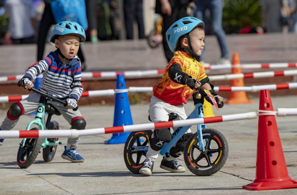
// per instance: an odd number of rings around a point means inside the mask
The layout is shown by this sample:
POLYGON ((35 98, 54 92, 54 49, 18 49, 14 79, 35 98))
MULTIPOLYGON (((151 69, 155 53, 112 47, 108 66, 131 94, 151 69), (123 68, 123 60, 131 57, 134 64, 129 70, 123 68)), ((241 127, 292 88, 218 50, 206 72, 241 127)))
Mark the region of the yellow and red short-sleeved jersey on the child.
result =
POLYGON ((189 54, 184 51, 175 52, 174 57, 165 68, 165 73, 162 76, 162 80, 159 85, 153 87, 154 96, 175 106, 182 103, 187 104, 187 99, 193 94, 193 90, 187 85, 174 83, 169 78, 168 70, 172 64, 179 64, 183 72, 198 81, 207 78, 207 75, 203 71, 202 65, 193 59, 189 54))

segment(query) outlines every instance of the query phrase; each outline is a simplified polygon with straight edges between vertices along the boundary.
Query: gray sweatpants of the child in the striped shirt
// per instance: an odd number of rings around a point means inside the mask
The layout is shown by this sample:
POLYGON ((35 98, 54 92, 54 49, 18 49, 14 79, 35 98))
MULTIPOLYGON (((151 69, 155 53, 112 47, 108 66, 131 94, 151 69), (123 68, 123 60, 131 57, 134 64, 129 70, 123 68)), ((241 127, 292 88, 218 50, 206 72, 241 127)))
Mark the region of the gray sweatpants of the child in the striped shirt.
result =
MULTIPOLYGON (((20 101, 24 108, 24 115, 29 115, 37 111, 38 104, 39 104, 40 95, 37 93, 29 95, 26 99, 23 99, 20 101)), ((52 104, 56 109, 59 110, 61 115, 67 120, 67 122, 71 125, 71 120, 74 117, 81 117, 81 114, 79 110, 73 111, 72 109, 69 109, 68 107, 64 107, 62 104, 59 104, 55 101, 48 101, 49 104, 52 104)), ((0 126, 1 130, 11 130, 15 127, 15 125, 18 123, 18 120, 10 120, 7 116, 5 117, 4 121, 2 122, 2 125, 0 126)), ((29 122, 28 122, 29 123, 29 122)), ((68 138, 67 145, 70 146, 77 146, 79 138, 68 138)))

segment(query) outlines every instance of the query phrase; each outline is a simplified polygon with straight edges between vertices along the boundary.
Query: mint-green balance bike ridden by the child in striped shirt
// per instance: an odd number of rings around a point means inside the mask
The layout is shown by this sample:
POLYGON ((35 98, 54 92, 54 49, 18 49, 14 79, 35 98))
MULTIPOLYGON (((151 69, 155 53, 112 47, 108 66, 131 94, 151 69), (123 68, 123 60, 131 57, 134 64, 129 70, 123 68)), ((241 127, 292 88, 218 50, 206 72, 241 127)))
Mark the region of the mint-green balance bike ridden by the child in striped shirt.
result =
MULTIPOLYGON (((18 86, 24 87, 23 81, 20 80, 18 82, 18 86)), ((59 129, 59 123, 55 120, 51 121, 52 115, 61 115, 61 113, 52 105, 48 104, 48 100, 56 101, 64 106, 67 105, 67 102, 61 100, 59 98, 54 97, 52 94, 44 93, 38 89, 31 88, 31 90, 37 94, 40 94, 40 100, 38 109, 36 112, 35 120, 31 121, 26 130, 51 130, 51 129, 59 129), (48 113, 48 118, 45 121, 45 112, 48 113), (31 128, 31 125, 38 125, 38 128, 31 128)), ((76 107, 73 110, 77 110, 76 107)), ((37 155, 40 153, 40 149, 42 150, 42 156, 45 162, 50 162, 53 160, 56 148, 59 144, 62 144, 59 141, 59 138, 23 138, 22 142, 20 143, 20 147, 18 149, 17 155, 17 164, 20 168, 28 168, 34 160, 36 159, 37 155)))

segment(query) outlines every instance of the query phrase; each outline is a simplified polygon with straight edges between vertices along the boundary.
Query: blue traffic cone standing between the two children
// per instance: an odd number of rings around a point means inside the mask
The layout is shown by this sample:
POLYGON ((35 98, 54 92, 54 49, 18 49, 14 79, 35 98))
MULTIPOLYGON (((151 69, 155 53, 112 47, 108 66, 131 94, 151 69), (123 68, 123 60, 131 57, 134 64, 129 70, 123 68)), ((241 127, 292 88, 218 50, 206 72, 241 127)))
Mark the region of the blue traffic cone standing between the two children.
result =
MULTIPOLYGON (((123 74, 119 74, 116 80, 116 89, 126 89, 123 74)), ((116 94, 114 104, 113 126, 133 125, 132 115, 127 92, 116 94)), ((105 144, 124 144, 131 132, 113 133, 105 144)))

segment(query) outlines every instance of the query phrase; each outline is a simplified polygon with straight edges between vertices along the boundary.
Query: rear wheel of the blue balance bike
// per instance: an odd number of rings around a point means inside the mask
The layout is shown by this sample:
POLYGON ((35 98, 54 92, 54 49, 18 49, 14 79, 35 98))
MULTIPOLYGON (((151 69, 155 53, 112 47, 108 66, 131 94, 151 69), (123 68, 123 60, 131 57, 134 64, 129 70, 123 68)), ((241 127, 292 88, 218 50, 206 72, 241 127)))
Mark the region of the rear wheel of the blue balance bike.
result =
POLYGON ((152 130, 131 132, 127 138, 124 148, 124 161, 126 167, 132 173, 138 174, 142 163, 146 159, 147 151, 138 150, 139 147, 149 146, 149 138, 153 134, 152 130), (132 152, 132 150, 135 150, 132 152))

